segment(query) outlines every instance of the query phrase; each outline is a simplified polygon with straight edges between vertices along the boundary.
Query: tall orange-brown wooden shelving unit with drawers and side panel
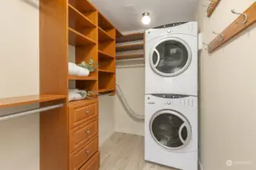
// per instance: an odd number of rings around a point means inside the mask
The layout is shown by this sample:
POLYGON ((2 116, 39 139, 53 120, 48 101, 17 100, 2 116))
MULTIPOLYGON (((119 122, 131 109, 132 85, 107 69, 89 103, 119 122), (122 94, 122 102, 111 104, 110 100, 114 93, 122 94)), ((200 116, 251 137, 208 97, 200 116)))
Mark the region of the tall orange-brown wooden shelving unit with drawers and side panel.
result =
MULTIPOLYGON (((87 127, 87 123, 98 127, 97 96, 68 102, 68 88, 115 94, 117 34, 122 36, 87 0, 40 0, 40 95, 59 94, 65 100, 65 107, 40 114, 40 170, 87 169, 87 162, 99 156, 98 146, 90 156, 82 152, 89 143, 98 145, 98 129, 80 143, 83 146, 70 146, 75 140, 71 134, 78 128, 87 127), (74 48, 72 62, 93 59, 99 64, 90 76, 68 75, 68 45, 74 48), (85 116, 89 111, 93 116, 85 116)), ((90 168, 98 169, 99 165, 97 160, 90 168)))

